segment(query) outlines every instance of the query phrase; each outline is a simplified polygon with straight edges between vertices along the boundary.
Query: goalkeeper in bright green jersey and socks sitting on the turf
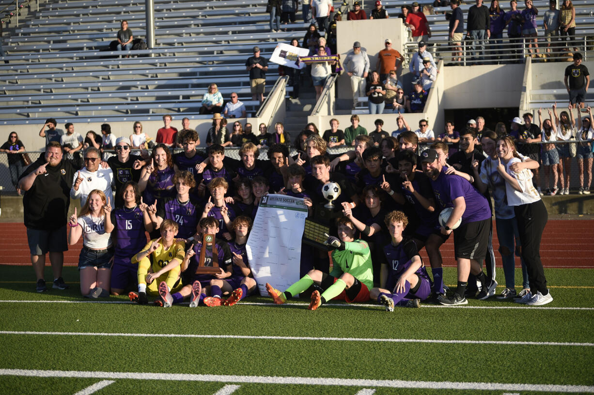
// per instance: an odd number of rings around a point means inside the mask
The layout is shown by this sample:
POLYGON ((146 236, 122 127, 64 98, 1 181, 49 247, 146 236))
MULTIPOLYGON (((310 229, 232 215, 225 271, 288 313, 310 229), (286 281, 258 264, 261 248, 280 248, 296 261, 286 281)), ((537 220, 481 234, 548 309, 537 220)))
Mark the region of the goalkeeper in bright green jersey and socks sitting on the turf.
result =
POLYGON ((373 285, 373 270, 369 246, 364 240, 355 239, 355 225, 346 217, 336 221, 338 238, 330 236, 327 244, 336 247, 332 252, 334 269, 330 274, 321 270, 309 270, 298 282, 289 286, 285 292, 274 289, 266 283, 268 295, 274 303, 283 304, 293 295, 300 294, 313 283, 325 291, 311 294, 309 310, 316 310, 328 300, 344 300, 346 302, 365 302, 369 300, 369 289, 373 285))

